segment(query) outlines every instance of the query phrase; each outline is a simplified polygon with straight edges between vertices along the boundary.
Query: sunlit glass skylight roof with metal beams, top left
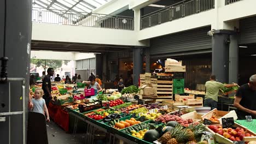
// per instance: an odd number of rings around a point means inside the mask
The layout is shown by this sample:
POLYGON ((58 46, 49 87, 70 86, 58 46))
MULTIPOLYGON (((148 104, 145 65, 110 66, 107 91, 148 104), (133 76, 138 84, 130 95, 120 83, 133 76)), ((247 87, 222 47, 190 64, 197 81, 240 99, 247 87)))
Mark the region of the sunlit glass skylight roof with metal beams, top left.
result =
POLYGON ((91 13, 110 0, 34 0, 33 7, 49 11, 62 10, 66 13, 82 14, 91 13))

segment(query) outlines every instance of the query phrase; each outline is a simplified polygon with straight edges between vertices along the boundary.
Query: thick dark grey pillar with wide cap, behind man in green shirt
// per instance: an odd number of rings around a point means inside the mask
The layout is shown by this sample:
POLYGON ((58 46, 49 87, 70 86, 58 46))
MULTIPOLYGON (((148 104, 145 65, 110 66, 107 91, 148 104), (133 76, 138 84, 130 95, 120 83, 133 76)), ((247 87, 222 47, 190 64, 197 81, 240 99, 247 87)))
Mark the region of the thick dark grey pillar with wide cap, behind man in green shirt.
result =
POLYGON ((212 74, 219 82, 229 82, 229 43, 234 31, 216 30, 212 37, 212 74))

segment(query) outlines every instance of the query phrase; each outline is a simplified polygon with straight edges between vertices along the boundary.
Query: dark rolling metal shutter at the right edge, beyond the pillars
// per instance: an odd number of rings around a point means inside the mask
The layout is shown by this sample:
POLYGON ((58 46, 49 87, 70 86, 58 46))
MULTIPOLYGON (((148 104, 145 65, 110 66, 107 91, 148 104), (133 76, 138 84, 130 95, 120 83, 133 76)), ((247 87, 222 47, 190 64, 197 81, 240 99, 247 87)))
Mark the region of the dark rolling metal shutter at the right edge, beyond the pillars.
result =
POLYGON ((256 16, 240 20, 240 44, 256 43, 256 16))

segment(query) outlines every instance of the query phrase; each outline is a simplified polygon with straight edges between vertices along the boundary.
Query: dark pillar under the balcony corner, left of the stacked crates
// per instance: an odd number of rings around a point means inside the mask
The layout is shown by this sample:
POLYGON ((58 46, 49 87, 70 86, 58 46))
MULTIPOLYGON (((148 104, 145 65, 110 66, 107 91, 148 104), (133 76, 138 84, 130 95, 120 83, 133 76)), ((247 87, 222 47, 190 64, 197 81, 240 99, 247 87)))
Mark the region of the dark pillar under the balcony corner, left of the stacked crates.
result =
POLYGON ((133 85, 138 86, 139 74, 142 73, 143 50, 141 47, 133 48, 133 85))

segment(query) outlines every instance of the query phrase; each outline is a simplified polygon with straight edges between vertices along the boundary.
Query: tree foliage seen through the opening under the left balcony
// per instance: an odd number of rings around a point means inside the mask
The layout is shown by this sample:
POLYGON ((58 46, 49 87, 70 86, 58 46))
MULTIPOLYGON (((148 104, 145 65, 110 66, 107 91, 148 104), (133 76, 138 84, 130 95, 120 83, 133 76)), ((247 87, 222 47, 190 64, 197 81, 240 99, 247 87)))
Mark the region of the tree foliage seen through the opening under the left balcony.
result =
POLYGON ((62 64, 67 64, 70 61, 66 60, 55 60, 55 59, 31 59, 32 64, 36 64, 36 67, 43 67, 45 69, 47 68, 53 68, 58 69, 61 68, 62 64), (45 68, 45 61, 46 61, 46 68, 45 68))

